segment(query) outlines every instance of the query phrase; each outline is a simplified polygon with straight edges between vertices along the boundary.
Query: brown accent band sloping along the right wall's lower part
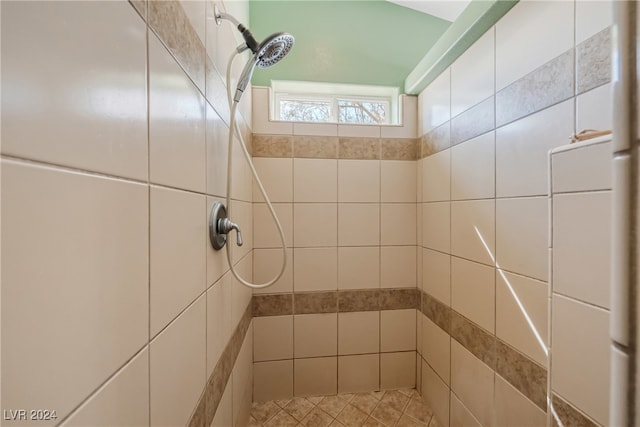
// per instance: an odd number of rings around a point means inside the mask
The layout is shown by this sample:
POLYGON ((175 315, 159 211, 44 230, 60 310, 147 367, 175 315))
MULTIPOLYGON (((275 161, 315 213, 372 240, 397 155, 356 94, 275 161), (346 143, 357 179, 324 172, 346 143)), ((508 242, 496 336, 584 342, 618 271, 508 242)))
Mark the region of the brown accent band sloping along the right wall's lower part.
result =
POLYGON ((545 368, 426 292, 422 292, 420 308, 427 318, 447 332, 451 338, 546 412, 547 371, 545 368))

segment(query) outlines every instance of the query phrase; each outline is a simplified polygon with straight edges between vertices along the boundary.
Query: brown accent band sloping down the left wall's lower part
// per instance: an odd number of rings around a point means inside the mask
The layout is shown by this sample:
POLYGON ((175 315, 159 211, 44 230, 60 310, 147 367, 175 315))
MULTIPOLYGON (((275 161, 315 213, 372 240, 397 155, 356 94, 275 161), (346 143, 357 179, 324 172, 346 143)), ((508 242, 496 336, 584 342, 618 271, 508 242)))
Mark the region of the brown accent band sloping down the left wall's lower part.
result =
POLYGON ((251 311, 251 303, 249 303, 236 329, 233 334, 231 334, 227 346, 220 355, 220 359, 218 359, 213 373, 207 381, 204 393, 200 396, 196 410, 189 420, 189 427, 205 427, 211 425, 213 417, 220 405, 220 400, 222 400, 224 389, 227 386, 229 378, 231 378, 233 365, 238 358, 240 348, 251 325, 251 311))

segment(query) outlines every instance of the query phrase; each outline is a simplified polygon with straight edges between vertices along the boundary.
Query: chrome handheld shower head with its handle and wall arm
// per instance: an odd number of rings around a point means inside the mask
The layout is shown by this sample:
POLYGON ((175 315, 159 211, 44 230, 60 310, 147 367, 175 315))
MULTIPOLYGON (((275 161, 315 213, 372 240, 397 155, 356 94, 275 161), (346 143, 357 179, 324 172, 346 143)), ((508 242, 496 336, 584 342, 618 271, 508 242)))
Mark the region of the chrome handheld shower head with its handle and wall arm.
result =
POLYGON ((242 97, 242 93, 247 88, 247 85, 251 80, 255 67, 268 68, 280 62, 293 47, 295 39, 289 33, 274 33, 264 39, 261 43, 258 43, 253 37, 253 34, 251 34, 251 31, 238 22, 238 20, 232 15, 220 12, 218 6, 214 6, 214 14, 216 24, 220 25, 223 19, 227 19, 231 21, 242 34, 245 45, 239 47, 237 49, 238 52, 242 52, 248 48, 253 53, 253 57, 251 57, 244 66, 240 79, 238 80, 238 86, 236 87, 236 94, 233 100, 239 102, 242 97))

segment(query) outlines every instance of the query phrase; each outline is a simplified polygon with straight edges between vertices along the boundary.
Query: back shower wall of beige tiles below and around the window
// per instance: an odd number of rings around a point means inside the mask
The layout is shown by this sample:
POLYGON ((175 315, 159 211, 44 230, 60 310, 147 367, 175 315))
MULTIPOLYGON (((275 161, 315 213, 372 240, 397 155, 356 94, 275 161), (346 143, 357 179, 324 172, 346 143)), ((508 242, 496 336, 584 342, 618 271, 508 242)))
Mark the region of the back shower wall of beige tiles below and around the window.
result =
MULTIPOLYGON (((253 156, 288 265, 254 291, 254 400, 415 386, 416 97, 402 126, 272 121, 253 88, 253 156)), ((254 278, 281 262, 254 187, 254 278)))

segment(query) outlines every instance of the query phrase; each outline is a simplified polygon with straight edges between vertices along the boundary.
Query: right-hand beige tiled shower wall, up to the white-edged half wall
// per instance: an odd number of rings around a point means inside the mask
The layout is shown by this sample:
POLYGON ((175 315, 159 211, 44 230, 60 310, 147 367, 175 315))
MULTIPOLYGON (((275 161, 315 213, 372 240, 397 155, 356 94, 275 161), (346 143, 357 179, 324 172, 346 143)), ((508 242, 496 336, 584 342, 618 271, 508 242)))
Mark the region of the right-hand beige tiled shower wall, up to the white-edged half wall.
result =
POLYGON ((547 153, 611 129, 610 6, 520 2, 419 94, 418 354, 445 426, 550 421, 547 153))

